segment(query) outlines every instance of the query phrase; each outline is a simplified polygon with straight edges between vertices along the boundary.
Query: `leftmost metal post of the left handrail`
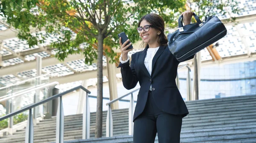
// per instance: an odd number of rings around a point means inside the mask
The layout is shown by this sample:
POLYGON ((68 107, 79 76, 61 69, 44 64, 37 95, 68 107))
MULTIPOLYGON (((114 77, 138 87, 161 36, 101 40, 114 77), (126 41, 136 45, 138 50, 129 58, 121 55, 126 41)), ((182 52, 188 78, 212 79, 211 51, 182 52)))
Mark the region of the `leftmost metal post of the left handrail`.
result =
POLYGON ((29 109, 29 117, 26 126, 26 137, 25 143, 33 143, 34 142, 34 124, 33 124, 33 116, 32 109, 29 109))

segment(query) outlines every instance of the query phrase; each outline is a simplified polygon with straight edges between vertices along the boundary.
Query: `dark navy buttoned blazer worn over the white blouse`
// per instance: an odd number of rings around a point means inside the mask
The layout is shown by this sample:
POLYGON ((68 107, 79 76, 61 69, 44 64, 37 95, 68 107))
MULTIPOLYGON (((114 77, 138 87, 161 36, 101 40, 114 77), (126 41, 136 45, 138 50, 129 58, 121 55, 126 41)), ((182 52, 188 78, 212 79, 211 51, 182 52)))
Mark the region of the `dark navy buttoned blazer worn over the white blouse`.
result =
MULTIPOLYGON (((145 108, 150 84, 152 84, 152 95, 155 104, 160 110, 185 117, 189 112, 175 81, 177 67, 180 62, 172 55, 168 46, 160 46, 153 58, 150 76, 144 64, 147 49, 148 47, 131 55, 131 66, 129 66, 129 62, 124 64, 120 62, 118 66, 121 67, 122 82, 127 90, 131 90, 137 85, 138 81, 140 82, 133 121, 145 108)), ((186 60, 193 57, 191 56, 186 60)))

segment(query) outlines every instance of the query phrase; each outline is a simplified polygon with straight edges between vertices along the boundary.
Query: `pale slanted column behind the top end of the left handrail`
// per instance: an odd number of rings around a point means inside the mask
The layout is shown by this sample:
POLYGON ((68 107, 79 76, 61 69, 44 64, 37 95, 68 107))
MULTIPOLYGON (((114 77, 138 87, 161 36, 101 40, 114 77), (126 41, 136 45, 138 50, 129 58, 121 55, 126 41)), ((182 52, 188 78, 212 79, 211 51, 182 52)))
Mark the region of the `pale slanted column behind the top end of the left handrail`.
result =
MULTIPOLYGON (((82 81, 81 85, 87 89, 87 87, 88 87, 87 80, 82 81)), ((83 113, 85 99, 86 99, 86 92, 82 89, 79 89, 79 99, 78 99, 76 114, 83 113)))

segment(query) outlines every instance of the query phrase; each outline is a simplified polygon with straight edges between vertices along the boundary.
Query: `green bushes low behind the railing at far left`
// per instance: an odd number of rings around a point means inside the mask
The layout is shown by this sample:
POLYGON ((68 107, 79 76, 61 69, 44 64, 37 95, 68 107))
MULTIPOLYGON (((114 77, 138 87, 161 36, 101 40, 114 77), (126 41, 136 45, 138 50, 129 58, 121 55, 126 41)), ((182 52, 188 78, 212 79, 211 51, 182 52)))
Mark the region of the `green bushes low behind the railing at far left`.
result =
MULTIPOLYGON (((4 116, 4 115, 3 115, 4 116)), ((28 119, 28 115, 24 114, 24 113, 20 113, 18 115, 15 115, 13 118, 13 124, 17 124, 23 121, 26 121, 28 119)), ((5 119, 3 121, 0 121, 0 130, 1 129, 5 129, 8 127, 8 119, 5 119)))

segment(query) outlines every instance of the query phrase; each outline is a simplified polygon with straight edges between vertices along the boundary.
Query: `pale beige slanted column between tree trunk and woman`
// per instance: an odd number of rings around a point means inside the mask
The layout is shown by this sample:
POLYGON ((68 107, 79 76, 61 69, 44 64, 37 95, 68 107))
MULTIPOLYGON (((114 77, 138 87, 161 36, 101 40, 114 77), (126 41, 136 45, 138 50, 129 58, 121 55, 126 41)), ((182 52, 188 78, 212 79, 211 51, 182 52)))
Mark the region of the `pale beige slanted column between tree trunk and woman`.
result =
MULTIPOLYGON (((110 59, 107 57, 109 95, 110 101, 112 101, 118 98, 116 84, 116 64, 111 64, 109 61, 110 59)), ((118 101, 111 104, 111 109, 119 109, 118 101)))

